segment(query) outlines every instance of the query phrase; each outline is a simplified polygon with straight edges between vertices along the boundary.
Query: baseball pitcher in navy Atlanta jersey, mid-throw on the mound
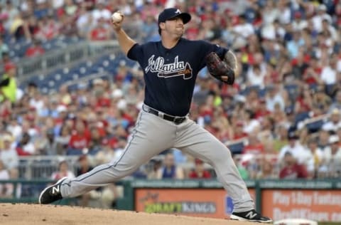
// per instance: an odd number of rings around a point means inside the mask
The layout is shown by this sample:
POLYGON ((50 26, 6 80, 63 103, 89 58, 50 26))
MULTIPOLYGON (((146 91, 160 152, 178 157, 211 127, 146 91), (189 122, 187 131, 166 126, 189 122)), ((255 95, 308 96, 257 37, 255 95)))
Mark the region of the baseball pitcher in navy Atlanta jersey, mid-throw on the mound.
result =
POLYGON ((161 41, 136 43, 121 28, 124 15, 113 14, 121 50, 144 70, 145 98, 124 153, 75 179, 63 178, 41 192, 40 204, 77 197, 125 177, 163 150, 177 148, 212 165, 217 178, 234 201, 231 219, 270 223, 254 209, 246 184, 229 149, 188 117, 197 73, 207 66, 211 75, 232 85, 237 61, 232 53, 206 41, 183 38, 188 13, 164 9, 158 16, 161 41))

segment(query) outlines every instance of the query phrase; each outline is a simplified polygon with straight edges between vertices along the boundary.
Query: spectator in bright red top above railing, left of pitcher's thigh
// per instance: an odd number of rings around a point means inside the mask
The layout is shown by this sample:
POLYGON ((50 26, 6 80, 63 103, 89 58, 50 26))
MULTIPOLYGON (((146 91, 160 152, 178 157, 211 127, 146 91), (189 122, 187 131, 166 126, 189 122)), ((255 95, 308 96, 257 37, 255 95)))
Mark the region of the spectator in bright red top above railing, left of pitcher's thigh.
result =
POLYGON ((82 120, 76 120, 75 130, 72 131, 72 135, 70 137, 67 155, 82 155, 82 153, 84 153, 82 151, 89 147, 90 139, 90 131, 87 130, 85 122, 82 120))

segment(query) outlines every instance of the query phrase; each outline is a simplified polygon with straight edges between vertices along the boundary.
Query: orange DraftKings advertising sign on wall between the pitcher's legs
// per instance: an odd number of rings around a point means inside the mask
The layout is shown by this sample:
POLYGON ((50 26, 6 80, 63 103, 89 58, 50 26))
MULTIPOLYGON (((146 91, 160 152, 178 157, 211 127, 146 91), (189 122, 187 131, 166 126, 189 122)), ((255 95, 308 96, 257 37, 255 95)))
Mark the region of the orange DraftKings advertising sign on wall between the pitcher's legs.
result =
POLYGON ((227 219, 233 203, 224 189, 136 189, 135 210, 227 219))

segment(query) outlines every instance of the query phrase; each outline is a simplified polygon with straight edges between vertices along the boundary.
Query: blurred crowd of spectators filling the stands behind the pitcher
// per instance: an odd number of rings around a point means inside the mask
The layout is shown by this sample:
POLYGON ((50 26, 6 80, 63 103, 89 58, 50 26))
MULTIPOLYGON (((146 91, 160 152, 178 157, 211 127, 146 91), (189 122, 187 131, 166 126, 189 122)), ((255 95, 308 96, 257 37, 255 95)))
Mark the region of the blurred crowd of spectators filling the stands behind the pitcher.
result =
MULTIPOLYGON (((171 6, 192 15, 186 38, 237 55, 240 75, 233 86, 200 71, 190 117, 228 146, 242 143, 232 151, 242 177, 340 177, 341 1, 6 1, 0 5, 0 34, 3 40, 32 41, 33 48, 61 35, 111 40, 110 16, 120 10, 139 41, 157 41, 158 12, 171 6)), ((1 41, 1 56, 8 50, 1 41)), ((122 61, 111 79, 80 83, 74 91, 62 85, 58 93, 43 95, 36 83, 18 88, 16 65, 8 56, 3 61, 0 179, 18 177, 18 157, 86 155, 95 166, 124 151, 144 98, 140 68, 122 61)), ((178 150, 150 163, 133 176, 215 177, 207 164, 178 150)))

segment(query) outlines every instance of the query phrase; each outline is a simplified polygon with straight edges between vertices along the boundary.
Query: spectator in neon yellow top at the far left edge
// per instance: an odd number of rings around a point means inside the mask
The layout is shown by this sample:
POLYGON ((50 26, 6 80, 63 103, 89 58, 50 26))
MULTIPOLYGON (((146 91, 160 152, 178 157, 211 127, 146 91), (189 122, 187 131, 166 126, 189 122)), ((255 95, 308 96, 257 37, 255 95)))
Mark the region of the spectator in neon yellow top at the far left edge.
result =
POLYGON ((0 102, 10 100, 11 103, 16 102, 16 65, 14 63, 6 63, 4 66, 5 73, 0 80, 0 102))

